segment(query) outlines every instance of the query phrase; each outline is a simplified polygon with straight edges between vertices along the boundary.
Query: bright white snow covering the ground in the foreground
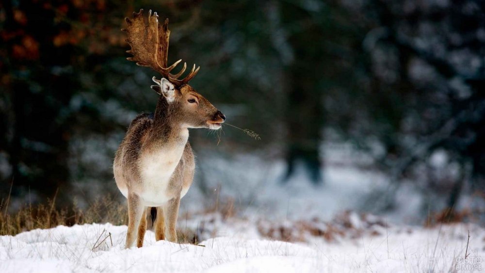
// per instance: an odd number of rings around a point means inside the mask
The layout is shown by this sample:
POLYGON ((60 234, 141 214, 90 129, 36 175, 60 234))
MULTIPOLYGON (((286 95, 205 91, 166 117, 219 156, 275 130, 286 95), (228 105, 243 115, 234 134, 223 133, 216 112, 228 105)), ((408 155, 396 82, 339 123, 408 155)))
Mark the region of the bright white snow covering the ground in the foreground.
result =
POLYGON ((389 226, 387 235, 295 243, 234 233, 230 225, 220 226, 226 236, 199 245, 155 241, 147 231, 144 247, 131 249, 123 249, 127 227, 111 224, 1 236, 0 272, 448 272, 465 264, 468 231, 469 259, 485 266, 485 230, 472 224, 389 226))

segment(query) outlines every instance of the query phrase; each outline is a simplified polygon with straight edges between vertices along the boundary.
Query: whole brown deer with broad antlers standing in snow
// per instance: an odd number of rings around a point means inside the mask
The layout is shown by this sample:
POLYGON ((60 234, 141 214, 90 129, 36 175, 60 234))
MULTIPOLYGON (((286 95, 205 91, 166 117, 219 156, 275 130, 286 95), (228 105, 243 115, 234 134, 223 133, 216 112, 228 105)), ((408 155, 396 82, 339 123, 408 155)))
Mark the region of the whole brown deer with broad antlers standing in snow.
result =
POLYGON ((128 200, 128 230, 125 248, 142 247, 146 232, 146 216, 154 209, 153 226, 157 241, 177 242, 177 218, 180 199, 188 192, 194 179, 195 161, 188 141, 189 128, 222 127, 226 116, 188 82, 200 69, 183 79, 187 63, 177 74, 170 72, 182 61, 168 65, 170 31, 168 18, 161 25, 157 13, 143 9, 126 17, 126 40, 130 46, 127 58, 137 65, 147 66, 162 75, 153 77, 157 92, 155 112, 142 113, 129 124, 126 135, 116 151, 113 173, 116 186, 128 200))

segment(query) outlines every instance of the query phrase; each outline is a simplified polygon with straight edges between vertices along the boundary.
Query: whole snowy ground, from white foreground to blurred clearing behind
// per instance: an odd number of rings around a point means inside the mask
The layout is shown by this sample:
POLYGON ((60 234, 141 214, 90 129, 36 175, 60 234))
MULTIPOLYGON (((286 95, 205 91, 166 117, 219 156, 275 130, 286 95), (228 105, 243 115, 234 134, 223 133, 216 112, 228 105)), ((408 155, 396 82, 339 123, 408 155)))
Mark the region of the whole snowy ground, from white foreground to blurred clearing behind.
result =
POLYGON ((390 214, 358 212, 364 197, 389 186, 372 171, 326 162, 323 185, 311 185, 300 172, 282 187, 282 162, 242 157, 210 164, 216 167, 206 176, 231 169, 224 181, 235 182, 209 184, 209 202, 196 184, 182 199, 178 229, 189 240, 196 236, 197 245, 156 242, 147 231, 144 247, 125 250, 126 226, 58 226, 1 236, 0 273, 485 271, 479 225, 405 224, 421 208, 416 193, 397 194, 400 209, 390 214), (216 199, 219 208, 209 209, 216 199))

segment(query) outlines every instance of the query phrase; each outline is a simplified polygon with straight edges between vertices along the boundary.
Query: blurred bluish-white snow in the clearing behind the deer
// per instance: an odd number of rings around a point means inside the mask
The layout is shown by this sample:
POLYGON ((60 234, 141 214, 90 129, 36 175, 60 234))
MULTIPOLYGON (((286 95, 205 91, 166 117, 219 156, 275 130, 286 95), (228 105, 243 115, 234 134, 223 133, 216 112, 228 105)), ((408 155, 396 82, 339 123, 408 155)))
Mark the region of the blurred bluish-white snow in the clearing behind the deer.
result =
POLYGON ((341 211, 361 209, 370 193, 388 187, 387 177, 341 162, 355 158, 354 154, 331 149, 325 149, 324 153, 332 161, 324 164, 322 185, 309 182, 301 164, 297 164, 295 173, 283 185, 284 161, 267 161, 255 155, 240 155, 230 161, 220 156, 199 155, 196 175, 203 173, 205 178, 195 177, 194 185, 182 199, 181 211, 193 211, 207 199, 194 190, 201 180, 212 183, 207 185, 214 192, 211 199, 234 199, 247 212, 243 216, 251 218, 257 213, 271 219, 292 220, 315 217, 331 220, 341 211))

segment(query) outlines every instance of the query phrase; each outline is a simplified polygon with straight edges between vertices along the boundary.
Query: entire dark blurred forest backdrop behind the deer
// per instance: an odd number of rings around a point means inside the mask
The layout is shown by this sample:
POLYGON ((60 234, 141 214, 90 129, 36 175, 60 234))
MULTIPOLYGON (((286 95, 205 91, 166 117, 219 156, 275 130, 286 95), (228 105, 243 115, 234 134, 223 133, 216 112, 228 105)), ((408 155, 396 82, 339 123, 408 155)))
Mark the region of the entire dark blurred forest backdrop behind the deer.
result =
MULTIPOLYGON (((394 181, 416 181, 449 207, 465 181, 483 187, 479 0, 9 0, 0 6, 0 195, 12 179, 18 196, 113 189, 113 152, 157 98, 155 74, 125 61, 122 18, 141 7, 170 18, 169 61, 201 64, 193 86, 229 123, 261 135, 225 127, 227 154, 285 158, 287 178, 303 162, 318 183, 323 139, 350 140, 394 181)), ((205 134, 191 133, 195 149, 213 141, 205 134)))

